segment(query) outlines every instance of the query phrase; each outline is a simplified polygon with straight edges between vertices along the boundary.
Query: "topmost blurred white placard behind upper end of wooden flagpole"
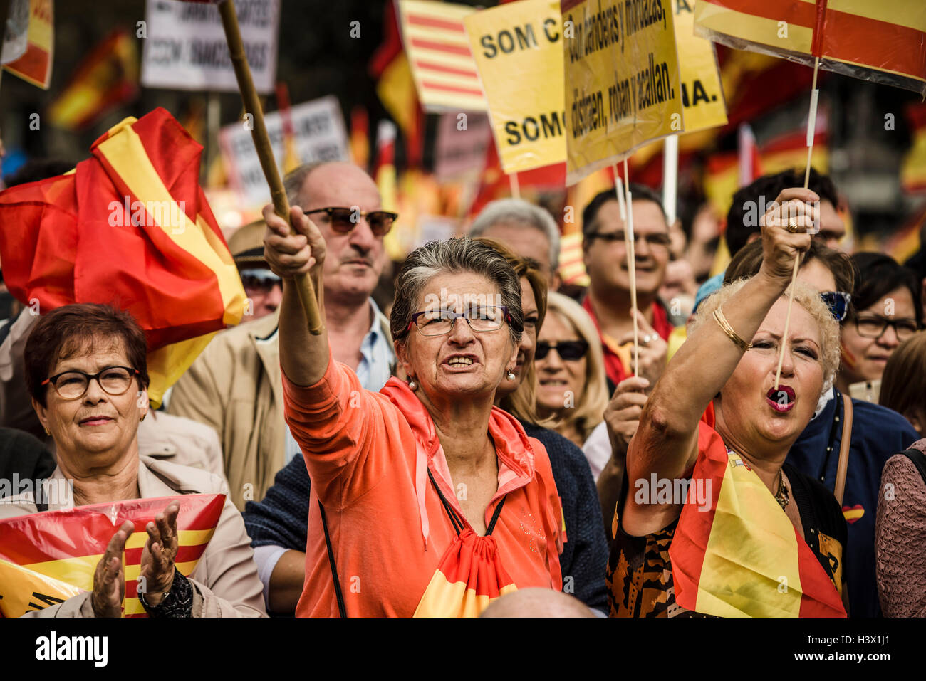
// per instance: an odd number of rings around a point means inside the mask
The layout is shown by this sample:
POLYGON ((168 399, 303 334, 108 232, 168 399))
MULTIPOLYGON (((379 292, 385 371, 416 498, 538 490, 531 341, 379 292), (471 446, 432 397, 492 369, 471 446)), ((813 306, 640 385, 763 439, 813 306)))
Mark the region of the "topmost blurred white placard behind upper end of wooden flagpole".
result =
MULTIPOLYGON (((234 6, 254 86, 258 93, 272 93, 277 74, 280 0, 235 0, 234 6)), ((144 87, 238 92, 217 6, 148 0, 144 28, 144 87)))

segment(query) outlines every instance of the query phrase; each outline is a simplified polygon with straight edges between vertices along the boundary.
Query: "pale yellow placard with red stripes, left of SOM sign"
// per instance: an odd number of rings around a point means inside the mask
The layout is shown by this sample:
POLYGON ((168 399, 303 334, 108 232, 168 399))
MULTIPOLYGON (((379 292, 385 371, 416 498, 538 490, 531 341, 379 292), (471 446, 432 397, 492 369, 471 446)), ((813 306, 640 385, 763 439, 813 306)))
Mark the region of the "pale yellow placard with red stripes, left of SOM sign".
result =
POLYGON ((436 113, 485 111, 482 82, 463 23, 476 10, 427 0, 398 0, 398 6, 421 105, 436 113))

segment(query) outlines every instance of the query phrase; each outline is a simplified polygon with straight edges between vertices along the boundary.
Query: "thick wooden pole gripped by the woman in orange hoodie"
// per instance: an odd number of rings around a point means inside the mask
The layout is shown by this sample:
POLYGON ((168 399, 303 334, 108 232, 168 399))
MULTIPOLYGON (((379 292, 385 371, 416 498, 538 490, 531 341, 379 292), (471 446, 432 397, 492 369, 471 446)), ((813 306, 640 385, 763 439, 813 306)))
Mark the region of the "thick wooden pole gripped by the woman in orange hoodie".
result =
MULTIPOLYGON (((263 168, 264 177, 270 187, 273 212, 288 222, 289 201, 286 199, 286 191, 283 189, 280 171, 277 168, 276 159, 273 157, 273 148, 270 146, 267 127, 264 125, 264 111, 257 97, 254 80, 251 78, 251 67, 248 66, 247 57, 244 56, 244 43, 241 39, 238 15, 235 12, 232 0, 219 0, 219 15, 222 18, 225 40, 228 42, 229 53, 232 56, 232 66, 234 67, 235 78, 238 80, 238 89, 241 91, 241 98, 244 101, 244 110, 254 117, 254 129, 251 130, 251 139, 254 140, 257 157, 260 159, 260 167, 263 168)), ((309 279, 307 274, 302 274, 293 281, 296 291, 299 292, 299 300, 302 302, 303 311, 306 313, 308 330, 313 335, 318 336, 323 325, 312 280, 309 279)))

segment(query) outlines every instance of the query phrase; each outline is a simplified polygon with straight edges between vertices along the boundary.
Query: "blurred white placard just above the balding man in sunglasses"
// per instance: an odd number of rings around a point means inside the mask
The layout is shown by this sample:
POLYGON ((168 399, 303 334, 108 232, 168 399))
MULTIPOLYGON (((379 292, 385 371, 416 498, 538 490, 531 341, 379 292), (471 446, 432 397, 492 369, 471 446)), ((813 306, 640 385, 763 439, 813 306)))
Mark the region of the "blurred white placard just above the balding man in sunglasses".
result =
MULTIPOLYGON (((329 95, 290 108, 293 120, 296 154, 302 163, 313 161, 346 161, 350 158, 347 131, 337 97, 329 95)), ((282 174, 285 157, 282 117, 278 111, 264 117, 273 155, 282 174)), ((229 171, 232 187, 245 205, 269 202, 270 192, 257 158, 251 131, 246 122, 232 123, 219 130, 222 159, 229 171)))

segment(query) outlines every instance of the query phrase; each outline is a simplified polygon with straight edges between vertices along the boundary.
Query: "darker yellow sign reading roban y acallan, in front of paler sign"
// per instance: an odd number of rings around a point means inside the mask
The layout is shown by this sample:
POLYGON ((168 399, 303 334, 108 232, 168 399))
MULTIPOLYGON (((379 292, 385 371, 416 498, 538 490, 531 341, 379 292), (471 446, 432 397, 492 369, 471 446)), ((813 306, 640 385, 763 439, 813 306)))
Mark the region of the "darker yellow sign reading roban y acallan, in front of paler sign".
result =
POLYGON ((668 0, 562 0, 566 183, 684 131, 668 0))

